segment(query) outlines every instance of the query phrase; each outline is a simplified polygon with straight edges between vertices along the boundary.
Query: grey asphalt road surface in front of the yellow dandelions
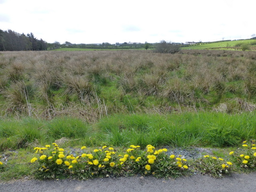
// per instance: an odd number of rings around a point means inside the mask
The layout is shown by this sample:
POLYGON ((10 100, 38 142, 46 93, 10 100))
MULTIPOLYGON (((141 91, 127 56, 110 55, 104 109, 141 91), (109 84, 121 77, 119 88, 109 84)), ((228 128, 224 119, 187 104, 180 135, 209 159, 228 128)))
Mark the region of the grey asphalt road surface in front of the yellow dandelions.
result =
POLYGON ((23 180, 0 182, 0 192, 256 192, 256 173, 215 179, 194 175, 178 179, 154 177, 92 180, 23 180))

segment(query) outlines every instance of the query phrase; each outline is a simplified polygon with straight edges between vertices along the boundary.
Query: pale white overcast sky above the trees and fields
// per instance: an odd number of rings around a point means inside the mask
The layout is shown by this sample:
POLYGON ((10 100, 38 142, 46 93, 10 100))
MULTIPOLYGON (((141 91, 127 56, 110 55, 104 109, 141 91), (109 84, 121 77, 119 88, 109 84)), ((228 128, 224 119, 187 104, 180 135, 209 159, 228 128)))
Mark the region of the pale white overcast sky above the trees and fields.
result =
POLYGON ((0 29, 61 44, 218 41, 256 34, 255 0, 0 0, 0 29))

